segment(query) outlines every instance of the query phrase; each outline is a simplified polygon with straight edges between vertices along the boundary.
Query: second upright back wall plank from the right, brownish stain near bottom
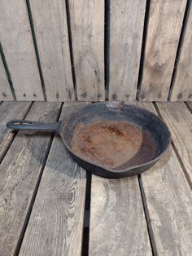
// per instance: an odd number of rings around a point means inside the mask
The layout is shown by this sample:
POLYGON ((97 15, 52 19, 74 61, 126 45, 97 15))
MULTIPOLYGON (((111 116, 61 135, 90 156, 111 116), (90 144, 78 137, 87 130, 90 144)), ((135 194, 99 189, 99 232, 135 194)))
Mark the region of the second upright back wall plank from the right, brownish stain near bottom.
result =
POLYGON ((141 100, 166 101, 186 0, 151 0, 141 82, 141 100))

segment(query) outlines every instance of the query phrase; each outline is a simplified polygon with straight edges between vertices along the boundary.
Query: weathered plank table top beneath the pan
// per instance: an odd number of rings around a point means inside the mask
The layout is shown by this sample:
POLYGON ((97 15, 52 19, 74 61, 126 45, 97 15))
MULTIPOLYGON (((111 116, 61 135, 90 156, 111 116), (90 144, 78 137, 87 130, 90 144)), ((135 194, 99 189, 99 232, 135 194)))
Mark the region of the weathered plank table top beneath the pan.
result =
POLYGON ((167 123, 172 144, 145 173, 87 174, 58 135, 7 121, 55 122, 74 103, 0 104, 0 255, 191 255, 192 103, 135 103, 167 123))

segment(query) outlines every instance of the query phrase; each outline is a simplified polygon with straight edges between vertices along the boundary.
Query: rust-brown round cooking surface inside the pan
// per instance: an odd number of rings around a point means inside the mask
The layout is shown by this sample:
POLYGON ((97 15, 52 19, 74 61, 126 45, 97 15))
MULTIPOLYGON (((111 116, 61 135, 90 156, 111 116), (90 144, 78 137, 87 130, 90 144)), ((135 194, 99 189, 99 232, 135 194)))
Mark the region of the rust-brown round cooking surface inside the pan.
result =
POLYGON ((149 131, 129 121, 95 120, 76 126, 71 148, 87 161, 120 170, 152 160, 156 143, 149 131))

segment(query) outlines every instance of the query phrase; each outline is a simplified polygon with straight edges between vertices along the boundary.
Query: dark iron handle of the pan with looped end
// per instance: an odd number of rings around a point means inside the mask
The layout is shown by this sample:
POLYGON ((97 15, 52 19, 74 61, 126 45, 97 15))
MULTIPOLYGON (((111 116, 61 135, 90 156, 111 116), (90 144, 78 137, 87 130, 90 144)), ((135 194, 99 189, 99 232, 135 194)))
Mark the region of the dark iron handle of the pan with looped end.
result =
POLYGON ((61 122, 43 124, 37 121, 11 120, 7 122, 7 128, 15 130, 52 130, 59 132, 61 122))

